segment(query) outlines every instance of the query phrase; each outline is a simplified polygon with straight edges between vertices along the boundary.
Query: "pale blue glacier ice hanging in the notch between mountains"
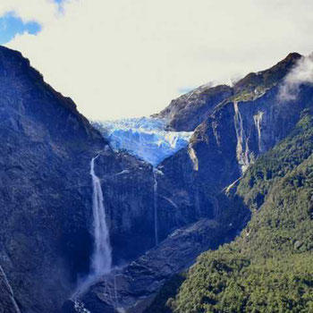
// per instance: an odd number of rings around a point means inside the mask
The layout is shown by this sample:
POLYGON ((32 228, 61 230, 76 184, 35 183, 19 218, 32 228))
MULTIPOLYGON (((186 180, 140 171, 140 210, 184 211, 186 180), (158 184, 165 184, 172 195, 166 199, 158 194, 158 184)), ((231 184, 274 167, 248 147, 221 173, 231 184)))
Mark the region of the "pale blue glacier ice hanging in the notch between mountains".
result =
POLYGON ((186 147, 192 135, 165 131, 165 124, 165 120, 151 117, 93 122, 115 151, 126 150, 153 166, 186 147))

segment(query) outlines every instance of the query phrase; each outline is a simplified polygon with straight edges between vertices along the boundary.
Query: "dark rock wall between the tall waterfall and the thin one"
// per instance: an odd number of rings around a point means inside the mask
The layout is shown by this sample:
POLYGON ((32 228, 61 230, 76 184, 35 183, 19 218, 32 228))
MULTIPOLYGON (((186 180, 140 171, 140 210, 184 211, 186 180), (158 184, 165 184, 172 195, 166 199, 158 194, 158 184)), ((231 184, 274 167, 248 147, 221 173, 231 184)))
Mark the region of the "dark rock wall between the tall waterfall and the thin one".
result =
POLYGON ((114 265, 139 258, 155 246, 154 180, 151 165, 106 149, 97 158, 114 265))

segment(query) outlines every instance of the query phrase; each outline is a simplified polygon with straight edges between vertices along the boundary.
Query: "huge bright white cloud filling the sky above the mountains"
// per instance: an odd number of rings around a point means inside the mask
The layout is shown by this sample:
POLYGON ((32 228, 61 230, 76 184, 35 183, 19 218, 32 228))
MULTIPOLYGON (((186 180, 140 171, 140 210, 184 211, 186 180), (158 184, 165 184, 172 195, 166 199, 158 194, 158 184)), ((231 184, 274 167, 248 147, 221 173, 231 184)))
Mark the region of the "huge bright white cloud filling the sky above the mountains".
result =
POLYGON ((45 0, 2 0, 0 13, 14 1, 45 27, 8 46, 89 118, 153 114, 182 88, 262 70, 313 44, 311 0, 68 0, 62 15, 45 0))

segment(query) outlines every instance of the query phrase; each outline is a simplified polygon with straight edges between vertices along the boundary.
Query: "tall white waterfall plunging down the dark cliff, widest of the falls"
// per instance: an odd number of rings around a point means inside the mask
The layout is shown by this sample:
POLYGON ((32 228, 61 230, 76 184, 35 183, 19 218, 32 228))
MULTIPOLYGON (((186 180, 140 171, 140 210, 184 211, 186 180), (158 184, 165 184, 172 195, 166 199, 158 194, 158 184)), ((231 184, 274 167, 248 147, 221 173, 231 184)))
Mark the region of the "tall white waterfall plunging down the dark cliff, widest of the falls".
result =
MULTIPOLYGON (((98 156, 97 156, 98 157, 98 156)), ((106 208, 104 205, 103 192, 100 179, 95 173, 95 160, 90 162, 90 175, 92 177, 92 212, 93 212, 93 235, 95 239, 95 250, 91 258, 92 275, 108 274, 112 266, 112 249, 110 235, 106 224, 106 208)))

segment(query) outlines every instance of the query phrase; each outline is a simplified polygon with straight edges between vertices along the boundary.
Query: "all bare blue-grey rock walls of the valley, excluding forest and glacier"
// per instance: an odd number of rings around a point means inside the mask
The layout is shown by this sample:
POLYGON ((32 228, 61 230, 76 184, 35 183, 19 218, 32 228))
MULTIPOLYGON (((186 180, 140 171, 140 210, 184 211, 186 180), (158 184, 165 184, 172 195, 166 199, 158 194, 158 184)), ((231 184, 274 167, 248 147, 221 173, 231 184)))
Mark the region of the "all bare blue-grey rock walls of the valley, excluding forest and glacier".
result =
POLYGON ((66 312, 84 305, 95 312, 121 306, 140 312, 139 300, 152 300, 201 251, 232 240, 250 214, 222 191, 313 105, 310 86, 300 87, 297 101, 277 97, 299 58, 288 55, 232 88, 202 87, 174 100, 158 116, 169 120, 168 128, 194 134, 188 148, 154 170, 114 153, 71 99, 49 87, 19 53, 1 48, 0 311, 58 312, 78 276, 88 275, 94 245, 89 170, 97 155, 114 265, 125 267, 115 273, 121 278, 116 299, 106 292, 116 280, 104 277, 79 306, 67 302, 66 312))

